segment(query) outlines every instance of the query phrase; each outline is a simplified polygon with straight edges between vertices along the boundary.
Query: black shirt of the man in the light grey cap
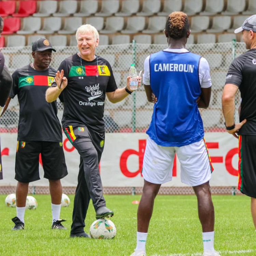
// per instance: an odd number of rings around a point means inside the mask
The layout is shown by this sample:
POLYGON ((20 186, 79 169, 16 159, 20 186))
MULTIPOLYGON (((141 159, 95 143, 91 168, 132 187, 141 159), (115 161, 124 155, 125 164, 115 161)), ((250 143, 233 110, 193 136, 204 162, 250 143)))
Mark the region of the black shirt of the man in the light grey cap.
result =
POLYGON ((247 122, 239 134, 256 135, 256 49, 251 49, 234 59, 229 67, 226 83, 239 87, 241 93, 240 122, 247 122))

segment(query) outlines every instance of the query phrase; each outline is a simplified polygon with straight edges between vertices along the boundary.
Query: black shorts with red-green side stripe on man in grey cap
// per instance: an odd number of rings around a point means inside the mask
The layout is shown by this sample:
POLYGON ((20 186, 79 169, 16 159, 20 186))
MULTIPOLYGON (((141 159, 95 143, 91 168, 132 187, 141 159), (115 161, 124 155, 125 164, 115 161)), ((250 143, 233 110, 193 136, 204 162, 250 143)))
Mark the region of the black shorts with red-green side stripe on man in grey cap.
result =
POLYGON ((256 198, 256 136, 239 136, 238 189, 249 197, 256 198))

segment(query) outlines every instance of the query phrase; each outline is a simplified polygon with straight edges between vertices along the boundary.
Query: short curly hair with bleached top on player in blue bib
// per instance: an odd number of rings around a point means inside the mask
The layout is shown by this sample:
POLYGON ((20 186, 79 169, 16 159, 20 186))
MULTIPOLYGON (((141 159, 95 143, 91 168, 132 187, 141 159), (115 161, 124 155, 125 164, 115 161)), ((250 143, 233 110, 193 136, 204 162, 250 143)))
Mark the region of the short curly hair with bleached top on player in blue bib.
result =
POLYGON ((184 12, 173 12, 168 16, 165 29, 169 37, 180 39, 187 36, 189 30, 188 16, 184 12))

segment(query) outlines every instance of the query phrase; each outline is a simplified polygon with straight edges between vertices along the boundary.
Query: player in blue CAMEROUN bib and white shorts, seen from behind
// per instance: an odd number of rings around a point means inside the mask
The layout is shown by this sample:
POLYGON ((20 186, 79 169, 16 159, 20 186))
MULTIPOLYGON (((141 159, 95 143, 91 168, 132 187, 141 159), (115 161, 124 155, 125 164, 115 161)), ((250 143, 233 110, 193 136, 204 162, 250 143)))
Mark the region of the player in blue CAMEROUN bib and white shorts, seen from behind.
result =
POLYGON ((144 62, 146 96, 155 104, 147 130, 137 247, 132 256, 146 255, 154 199, 161 184, 172 180, 175 154, 181 163, 181 181, 192 186, 197 196, 203 256, 218 256, 219 253, 214 250, 214 207, 209 185, 213 168, 198 110, 207 108, 210 103, 210 68, 206 59, 185 48, 190 35, 185 13, 173 12, 169 15, 165 35, 168 48, 148 56, 144 62))

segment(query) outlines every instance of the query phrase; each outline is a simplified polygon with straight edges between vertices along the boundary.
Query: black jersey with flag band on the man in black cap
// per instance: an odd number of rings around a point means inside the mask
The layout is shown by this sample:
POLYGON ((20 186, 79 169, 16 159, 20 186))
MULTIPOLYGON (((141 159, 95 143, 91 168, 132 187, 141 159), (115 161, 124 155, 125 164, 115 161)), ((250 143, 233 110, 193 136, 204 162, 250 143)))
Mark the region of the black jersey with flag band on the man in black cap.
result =
POLYGON ((48 103, 45 92, 52 85, 56 70, 38 71, 27 65, 13 74, 10 97, 18 96, 18 140, 62 141, 62 132, 57 117, 57 103, 48 103))

